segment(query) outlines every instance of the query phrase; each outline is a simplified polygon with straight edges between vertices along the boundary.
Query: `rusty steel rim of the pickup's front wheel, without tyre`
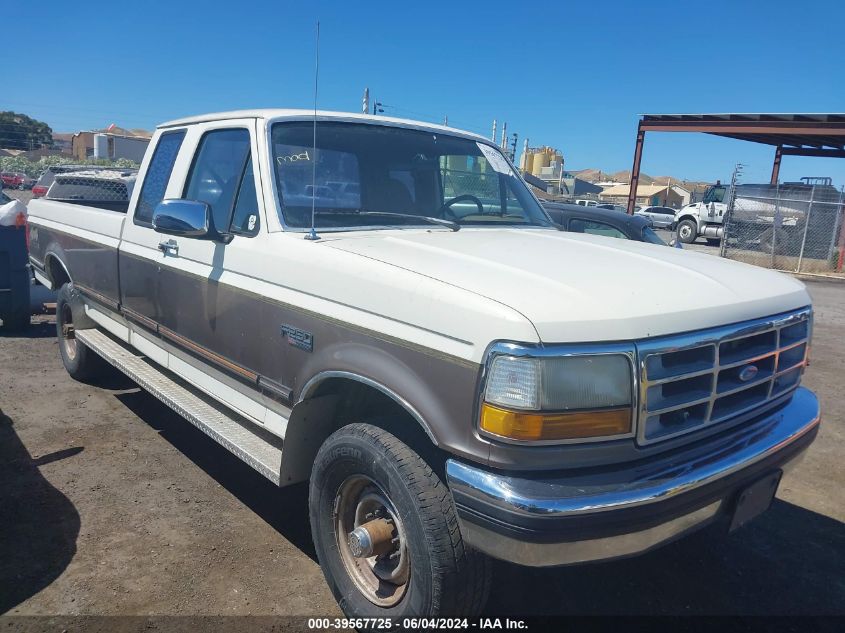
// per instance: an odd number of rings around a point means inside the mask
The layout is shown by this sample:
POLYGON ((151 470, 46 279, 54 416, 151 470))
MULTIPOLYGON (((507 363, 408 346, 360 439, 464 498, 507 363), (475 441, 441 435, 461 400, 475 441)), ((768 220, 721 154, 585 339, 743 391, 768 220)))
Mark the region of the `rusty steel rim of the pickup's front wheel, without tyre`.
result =
POLYGON ((411 557, 402 520, 387 494, 365 475, 348 477, 335 497, 334 524, 340 558, 358 591, 377 606, 397 605, 408 588, 411 557), (380 556, 355 558, 349 533, 373 518, 393 523, 393 546, 380 556))

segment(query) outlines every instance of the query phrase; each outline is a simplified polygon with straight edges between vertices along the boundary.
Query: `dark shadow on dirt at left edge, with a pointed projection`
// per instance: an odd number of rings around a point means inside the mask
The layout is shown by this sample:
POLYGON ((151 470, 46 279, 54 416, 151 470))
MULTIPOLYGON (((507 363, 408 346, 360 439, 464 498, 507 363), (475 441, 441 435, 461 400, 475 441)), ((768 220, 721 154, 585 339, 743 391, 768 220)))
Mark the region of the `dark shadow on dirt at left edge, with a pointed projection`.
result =
POLYGON ((82 450, 33 459, 0 410, 0 613, 48 586, 76 554, 79 513, 38 468, 82 450))

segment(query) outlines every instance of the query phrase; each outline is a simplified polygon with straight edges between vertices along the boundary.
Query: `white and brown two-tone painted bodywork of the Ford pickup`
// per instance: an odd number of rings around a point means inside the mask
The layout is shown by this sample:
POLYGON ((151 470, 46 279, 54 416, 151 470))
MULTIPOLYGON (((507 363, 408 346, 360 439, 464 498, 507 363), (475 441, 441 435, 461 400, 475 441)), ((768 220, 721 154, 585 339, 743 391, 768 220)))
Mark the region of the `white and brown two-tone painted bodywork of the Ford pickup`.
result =
MULTIPOLYGON (((38 274, 72 280, 102 327, 282 437, 323 381, 353 380, 394 399, 449 453, 510 470, 636 460, 675 443, 642 447, 621 438, 525 447, 483 437, 483 364, 500 341, 536 348, 631 343, 809 303, 801 284, 768 271, 554 229, 394 227, 323 231, 317 241, 304 240, 281 220, 267 139, 272 125, 311 116, 209 115, 167 123, 152 139, 151 150, 163 133, 185 131, 164 194, 180 198, 203 134, 248 130, 257 235, 223 244, 156 233, 134 218, 142 187, 134 189, 128 215, 74 206, 71 216, 63 205, 38 200, 30 207, 38 274), (160 249, 165 240, 176 248, 160 249), (667 285, 675 290, 666 292, 667 285), (313 349, 291 345, 285 328, 310 334, 313 349)), ((488 142, 383 117, 318 119, 488 142)))

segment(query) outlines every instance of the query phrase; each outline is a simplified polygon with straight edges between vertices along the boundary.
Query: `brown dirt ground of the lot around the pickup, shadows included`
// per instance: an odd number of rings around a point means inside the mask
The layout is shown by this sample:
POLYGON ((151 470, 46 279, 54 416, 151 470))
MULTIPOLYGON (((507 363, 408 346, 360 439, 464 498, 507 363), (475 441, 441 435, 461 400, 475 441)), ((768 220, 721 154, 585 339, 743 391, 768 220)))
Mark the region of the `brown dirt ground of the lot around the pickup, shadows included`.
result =
MULTIPOLYGON (((845 284, 809 282, 825 423, 765 515, 628 560, 496 565, 487 611, 845 615, 845 284)), ((304 487, 279 490, 131 383, 62 369, 52 317, 0 336, 0 613, 340 615, 304 487)))

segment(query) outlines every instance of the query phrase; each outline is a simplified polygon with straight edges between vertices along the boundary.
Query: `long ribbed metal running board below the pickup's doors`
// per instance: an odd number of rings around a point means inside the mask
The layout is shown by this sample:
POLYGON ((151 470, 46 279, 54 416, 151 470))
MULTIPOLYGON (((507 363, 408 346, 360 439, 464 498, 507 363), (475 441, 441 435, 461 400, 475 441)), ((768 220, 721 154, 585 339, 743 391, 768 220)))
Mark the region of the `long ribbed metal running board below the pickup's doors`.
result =
POLYGON ((76 330, 76 338, 176 411, 215 442, 279 485, 281 440, 195 389, 100 330, 76 330))

